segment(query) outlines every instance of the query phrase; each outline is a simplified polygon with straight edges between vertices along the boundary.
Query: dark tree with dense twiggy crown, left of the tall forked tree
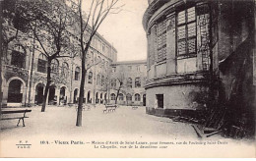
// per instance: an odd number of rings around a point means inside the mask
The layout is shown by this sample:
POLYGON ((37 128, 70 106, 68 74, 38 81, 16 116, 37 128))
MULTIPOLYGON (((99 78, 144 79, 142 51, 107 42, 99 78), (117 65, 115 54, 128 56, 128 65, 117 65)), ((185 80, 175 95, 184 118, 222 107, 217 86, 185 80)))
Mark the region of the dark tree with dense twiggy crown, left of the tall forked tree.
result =
POLYGON ((69 36, 74 12, 62 0, 22 0, 18 10, 24 11, 21 12, 21 17, 28 22, 25 26, 29 28, 30 35, 38 44, 37 50, 43 53, 47 60, 47 80, 41 107, 41 112, 44 112, 52 82, 52 60, 71 58, 77 53, 76 46, 72 46, 69 36))

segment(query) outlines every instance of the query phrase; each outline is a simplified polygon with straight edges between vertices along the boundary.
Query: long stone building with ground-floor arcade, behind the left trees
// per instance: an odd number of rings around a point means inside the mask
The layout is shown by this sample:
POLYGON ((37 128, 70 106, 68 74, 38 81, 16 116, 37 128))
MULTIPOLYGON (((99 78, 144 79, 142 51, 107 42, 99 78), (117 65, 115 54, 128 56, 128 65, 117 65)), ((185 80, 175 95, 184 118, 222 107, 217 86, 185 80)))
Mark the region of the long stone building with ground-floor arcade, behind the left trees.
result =
MULTIPOLYGON (((16 29, 9 24, 8 35, 14 35, 16 29)), ((20 31, 21 32, 21 31, 20 31)), ((42 103, 46 84, 45 55, 36 50, 39 45, 26 34, 10 42, 2 68, 2 105, 32 106, 42 103)), ((79 37, 70 34, 73 43, 78 43, 79 37)), ((87 64, 95 63, 87 73, 85 85, 85 103, 104 103, 107 69, 116 62, 116 49, 99 33, 94 36, 89 51, 87 64), (96 81, 99 79, 100 81, 96 81)), ((47 104, 64 105, 77 103, 81 79, 81 58, 55 59, 51 63, 52 83, 49 88, 47 104)))

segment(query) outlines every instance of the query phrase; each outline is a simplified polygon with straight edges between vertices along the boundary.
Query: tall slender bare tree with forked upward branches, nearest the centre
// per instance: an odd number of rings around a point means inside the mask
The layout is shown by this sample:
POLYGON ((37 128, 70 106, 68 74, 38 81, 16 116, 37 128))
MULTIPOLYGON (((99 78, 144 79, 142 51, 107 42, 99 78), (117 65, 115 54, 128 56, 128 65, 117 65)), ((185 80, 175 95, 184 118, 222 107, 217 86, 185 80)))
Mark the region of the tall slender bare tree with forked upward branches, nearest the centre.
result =
POLYGON ((96 34, 98 27, 102 24, 105 18, 110 14, 118 14, 121 11, 121 6, 116 7, 119 0, 91 0, 91 4, 83 4, 83 0, 78 0, 77 14, 79 16, 79 32, 80 32, 80 47, 82 52, 82 78, 80 84, 78 113, 76 126, 82 126, 82 108, 85 88, 86 69, 86 55, 88 54, 92 39, 96 34), (88 16, 83 14, 82 7, 84 5, 90 6, 88 16), (90 24, 90 25, 89 25, 90 24), (87 32, 88 38, 84 35, 87 32), (86 43, 84 43, 86 42, 86 43))

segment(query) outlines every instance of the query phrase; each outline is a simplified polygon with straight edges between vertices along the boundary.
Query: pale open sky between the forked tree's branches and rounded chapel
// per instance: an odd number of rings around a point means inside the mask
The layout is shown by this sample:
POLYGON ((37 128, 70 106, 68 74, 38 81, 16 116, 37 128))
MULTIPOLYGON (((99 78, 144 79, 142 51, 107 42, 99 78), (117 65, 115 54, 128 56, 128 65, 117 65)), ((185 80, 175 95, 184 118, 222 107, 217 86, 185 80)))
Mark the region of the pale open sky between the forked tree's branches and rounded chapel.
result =
POLYGON ((148 0, 120 0, 119 14, 109 15, 98 28, 99 34, 117 50, 117 61, 146 60, 147 38, 142 26, 148 0))

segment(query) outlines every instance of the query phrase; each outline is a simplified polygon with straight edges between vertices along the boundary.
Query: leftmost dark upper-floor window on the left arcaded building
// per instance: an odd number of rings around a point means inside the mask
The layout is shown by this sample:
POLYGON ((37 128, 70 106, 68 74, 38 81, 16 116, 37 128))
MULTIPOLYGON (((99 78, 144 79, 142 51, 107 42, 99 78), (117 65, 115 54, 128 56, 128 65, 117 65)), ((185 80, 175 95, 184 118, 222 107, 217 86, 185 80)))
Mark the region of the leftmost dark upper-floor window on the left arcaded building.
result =
POLYGON ((26 65, 26 54, 19 51, 12 51, 11 65, 25 68, 26 65))

